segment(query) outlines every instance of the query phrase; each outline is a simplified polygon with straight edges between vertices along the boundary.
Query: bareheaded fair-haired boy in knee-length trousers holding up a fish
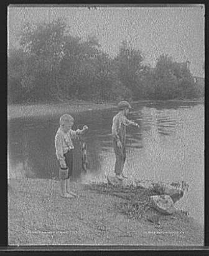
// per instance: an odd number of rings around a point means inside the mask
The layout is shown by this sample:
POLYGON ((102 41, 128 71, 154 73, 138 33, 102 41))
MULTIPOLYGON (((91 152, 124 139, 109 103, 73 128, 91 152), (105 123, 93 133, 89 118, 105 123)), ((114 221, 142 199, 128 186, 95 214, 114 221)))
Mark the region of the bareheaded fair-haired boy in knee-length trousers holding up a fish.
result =
POLYGON ((83 126, 83 129, 72 130, 74 119, 68 114, 64 114, 60 117, 60 127, 55 135, 55 148, 57 159, 60 164, 60 185, 62 197, 73 198, 76 196, 70 191, 70 176, 73 170, 73 143, 72 139, 75 139, 78 135, 83 134, 88 129, 87 126, 83 126))

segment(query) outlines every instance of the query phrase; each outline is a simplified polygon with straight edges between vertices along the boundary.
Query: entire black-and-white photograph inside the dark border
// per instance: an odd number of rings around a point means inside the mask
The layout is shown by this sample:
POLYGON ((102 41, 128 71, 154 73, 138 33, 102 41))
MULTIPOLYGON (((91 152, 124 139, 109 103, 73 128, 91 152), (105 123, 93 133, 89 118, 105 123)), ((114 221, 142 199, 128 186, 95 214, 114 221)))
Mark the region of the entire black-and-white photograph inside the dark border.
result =
POLYGON ((9 245, 203 246, 205 6, 7 7, 9 245))

